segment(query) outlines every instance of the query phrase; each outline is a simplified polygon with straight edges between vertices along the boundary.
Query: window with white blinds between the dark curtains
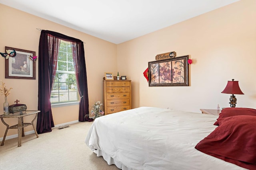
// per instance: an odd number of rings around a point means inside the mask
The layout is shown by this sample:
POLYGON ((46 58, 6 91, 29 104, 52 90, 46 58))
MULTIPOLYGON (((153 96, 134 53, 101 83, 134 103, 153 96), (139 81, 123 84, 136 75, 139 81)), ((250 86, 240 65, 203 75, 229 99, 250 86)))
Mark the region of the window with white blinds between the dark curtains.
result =
POLYGON ((56 76, 52 88, 51 104, 77 102, 79 99, 71 44, 60 41, 56 76))

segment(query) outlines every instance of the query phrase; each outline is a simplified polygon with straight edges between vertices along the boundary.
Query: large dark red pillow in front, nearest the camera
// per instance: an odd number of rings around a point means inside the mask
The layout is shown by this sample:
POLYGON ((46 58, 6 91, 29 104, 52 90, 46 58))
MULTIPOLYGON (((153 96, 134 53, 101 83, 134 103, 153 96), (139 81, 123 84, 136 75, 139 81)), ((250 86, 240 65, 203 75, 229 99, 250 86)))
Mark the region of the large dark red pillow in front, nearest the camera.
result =
POLYGON ((218 119, 219 126, 196 149, 250 170, 256 169, 256 116, 218 119))

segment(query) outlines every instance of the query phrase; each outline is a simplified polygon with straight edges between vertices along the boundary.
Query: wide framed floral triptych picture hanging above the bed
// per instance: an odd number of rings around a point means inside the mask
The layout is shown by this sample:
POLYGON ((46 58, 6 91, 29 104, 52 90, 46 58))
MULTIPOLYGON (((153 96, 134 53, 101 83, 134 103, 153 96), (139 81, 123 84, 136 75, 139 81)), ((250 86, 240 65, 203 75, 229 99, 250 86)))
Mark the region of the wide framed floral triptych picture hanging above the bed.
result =
POLYGON ((188 55, 148 62, 148 86, 189 86, 188 55))

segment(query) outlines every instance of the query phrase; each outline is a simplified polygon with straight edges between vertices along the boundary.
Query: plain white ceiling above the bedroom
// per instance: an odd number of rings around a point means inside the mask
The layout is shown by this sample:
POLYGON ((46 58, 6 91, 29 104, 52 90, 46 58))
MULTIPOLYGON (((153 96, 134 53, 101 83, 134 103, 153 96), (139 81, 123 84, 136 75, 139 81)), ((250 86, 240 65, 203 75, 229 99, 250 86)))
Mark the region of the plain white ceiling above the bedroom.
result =
POLYGON ((0 3, 119 44, 236 1, 0 0, 0 3))

